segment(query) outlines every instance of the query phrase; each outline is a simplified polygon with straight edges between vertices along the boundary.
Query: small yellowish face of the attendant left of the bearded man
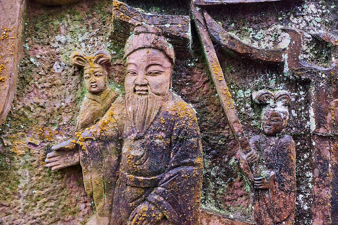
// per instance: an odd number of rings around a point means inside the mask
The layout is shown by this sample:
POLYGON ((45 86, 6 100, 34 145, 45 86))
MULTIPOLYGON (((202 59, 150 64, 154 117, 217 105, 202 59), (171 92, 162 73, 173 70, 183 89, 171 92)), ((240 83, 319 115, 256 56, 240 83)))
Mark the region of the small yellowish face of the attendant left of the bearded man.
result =
POLYGON ((84 84, 89 92, 98 94, 107 88, 107 72, 105 68, 98 64, 84 67, 84 84))

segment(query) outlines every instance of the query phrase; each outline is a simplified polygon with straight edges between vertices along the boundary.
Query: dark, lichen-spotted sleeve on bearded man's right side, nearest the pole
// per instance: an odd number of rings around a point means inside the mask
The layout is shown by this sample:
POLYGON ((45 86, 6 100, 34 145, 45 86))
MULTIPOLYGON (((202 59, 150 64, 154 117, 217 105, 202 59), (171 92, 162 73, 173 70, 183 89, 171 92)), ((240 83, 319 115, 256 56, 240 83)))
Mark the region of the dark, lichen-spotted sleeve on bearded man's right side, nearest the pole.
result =
POLYGON ((173 109, 177 110, 172 110, 171 159, 163 180, 147 201, 173 225, 198 225, 203 166, 197 118, 186 103, 179 102, 173 109))

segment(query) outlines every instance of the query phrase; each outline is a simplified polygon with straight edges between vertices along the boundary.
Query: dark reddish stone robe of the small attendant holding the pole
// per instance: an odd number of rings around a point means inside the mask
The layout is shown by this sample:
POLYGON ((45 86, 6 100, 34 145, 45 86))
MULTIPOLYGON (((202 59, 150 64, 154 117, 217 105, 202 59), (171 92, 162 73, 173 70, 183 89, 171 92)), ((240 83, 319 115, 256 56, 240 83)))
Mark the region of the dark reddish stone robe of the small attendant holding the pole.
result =
POLYGON ((257 152, 254 165, 255 176, 268 178, 269 190, 254 191, 254 212, 258 225, 294 224, 296 204, 295 144, 290 135, 256 135, 250 139, 251 147, 257 152))

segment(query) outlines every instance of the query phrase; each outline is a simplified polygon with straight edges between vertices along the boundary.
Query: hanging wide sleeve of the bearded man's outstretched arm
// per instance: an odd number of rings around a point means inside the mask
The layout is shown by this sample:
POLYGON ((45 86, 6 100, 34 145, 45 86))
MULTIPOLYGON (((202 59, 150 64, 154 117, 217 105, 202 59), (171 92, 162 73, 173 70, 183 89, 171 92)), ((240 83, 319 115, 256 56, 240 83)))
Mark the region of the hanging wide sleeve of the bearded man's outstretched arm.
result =
POLYGON ((93 196, 100 225, 108 225, 117 179, 121 140, 113 110, 96 125, 77 135, 84 188, 93 196))

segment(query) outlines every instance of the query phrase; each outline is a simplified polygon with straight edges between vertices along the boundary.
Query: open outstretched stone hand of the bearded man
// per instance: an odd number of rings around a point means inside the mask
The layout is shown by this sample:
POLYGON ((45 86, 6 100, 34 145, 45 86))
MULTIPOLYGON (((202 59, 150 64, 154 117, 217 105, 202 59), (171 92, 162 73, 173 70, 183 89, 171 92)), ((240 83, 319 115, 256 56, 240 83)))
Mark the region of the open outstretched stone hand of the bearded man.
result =
POLYGON ((58 170, 80 164, 80 155, 75 140, 67 140, 52 147, 45 159, 46 167, 58 170))

